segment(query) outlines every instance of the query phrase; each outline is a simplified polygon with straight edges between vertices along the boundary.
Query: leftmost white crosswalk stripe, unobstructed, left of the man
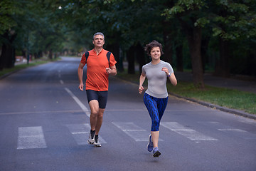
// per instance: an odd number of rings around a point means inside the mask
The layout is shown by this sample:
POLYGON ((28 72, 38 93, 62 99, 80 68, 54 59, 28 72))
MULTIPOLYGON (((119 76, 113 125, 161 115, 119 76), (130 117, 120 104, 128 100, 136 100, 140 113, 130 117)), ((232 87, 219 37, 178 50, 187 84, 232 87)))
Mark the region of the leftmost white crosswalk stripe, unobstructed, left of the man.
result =
POLYGON ((46 140, 41 126, 18 128, 18 150, 46 147, 46 140))

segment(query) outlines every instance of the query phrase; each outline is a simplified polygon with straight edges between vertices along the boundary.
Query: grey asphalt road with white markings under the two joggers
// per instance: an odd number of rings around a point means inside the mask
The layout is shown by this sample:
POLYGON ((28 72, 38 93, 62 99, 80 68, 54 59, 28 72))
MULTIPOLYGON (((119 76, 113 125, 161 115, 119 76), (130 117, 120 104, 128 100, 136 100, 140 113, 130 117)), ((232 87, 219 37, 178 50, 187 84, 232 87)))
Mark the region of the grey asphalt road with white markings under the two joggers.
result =
POLYGON ((100 141, 87 145, 90 111, 80 58, 0 80, 0 170, 256 170, 256 121, 169 96, 159 158, 138 86, 110 77, 100 141))

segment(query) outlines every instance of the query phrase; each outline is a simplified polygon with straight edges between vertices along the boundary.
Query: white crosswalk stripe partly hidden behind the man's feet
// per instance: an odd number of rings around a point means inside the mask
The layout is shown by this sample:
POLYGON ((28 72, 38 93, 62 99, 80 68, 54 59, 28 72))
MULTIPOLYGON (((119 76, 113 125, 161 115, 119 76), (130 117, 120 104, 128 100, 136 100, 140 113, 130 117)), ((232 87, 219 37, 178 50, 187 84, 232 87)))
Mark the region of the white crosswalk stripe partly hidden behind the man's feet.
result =
MULTIPOLYGON (((87 140, 90 133, 90 125, 88 123, 68 124, 66 126, 70 130, 70 133, 73 135, 73 138, 75 139, 75 142, 78 143, 78 145, 87 145, 87 140)), ((100 135, 99 140, 101 144, 107 143, 100 135)))

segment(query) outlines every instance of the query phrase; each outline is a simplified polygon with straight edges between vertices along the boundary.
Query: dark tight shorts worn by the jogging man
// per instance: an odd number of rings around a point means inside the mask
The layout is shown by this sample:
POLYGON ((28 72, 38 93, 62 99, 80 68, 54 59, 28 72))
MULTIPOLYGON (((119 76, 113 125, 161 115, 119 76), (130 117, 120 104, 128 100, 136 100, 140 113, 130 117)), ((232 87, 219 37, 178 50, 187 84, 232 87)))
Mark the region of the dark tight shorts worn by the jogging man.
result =
POLYGON ((108 91, 86 90, 88 103, 90 100, 97 100, 99 107, 105 109, 107 105, 107 92, 108 91))

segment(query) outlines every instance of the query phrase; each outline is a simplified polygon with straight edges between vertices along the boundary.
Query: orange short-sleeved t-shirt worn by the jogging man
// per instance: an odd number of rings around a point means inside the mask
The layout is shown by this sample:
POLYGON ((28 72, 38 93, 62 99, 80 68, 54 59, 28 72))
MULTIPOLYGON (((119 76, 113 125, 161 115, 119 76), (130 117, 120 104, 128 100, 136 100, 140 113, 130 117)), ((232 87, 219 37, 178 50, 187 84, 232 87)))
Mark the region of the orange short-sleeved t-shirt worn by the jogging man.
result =
POLYGON ((110 63, 107 60, 107 51, 102 48, 102 51, 97 53, 92 49, 89 51, 89 56, 85 58, 85 53, 82 55, 81 63, 85 65, 87 63, 87 79, 85 83, 85 90, 105 91, 108 90, 108 74, 106 68, 114 66, 117 61, 114 60, 114 56, 111 53, 110 63))

